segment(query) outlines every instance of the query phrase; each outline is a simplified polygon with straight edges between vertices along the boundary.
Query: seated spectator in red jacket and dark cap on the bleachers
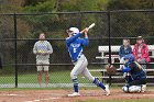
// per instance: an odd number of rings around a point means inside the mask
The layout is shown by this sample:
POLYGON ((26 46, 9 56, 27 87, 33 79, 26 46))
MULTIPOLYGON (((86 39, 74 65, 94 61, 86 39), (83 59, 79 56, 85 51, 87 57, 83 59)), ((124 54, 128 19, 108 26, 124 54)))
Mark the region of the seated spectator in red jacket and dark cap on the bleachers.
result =
POLYGON ((146 63, 150 63, 151 59, 148 57, 148 46, 144 43, 144 39, 142 36, 138 36, 136 44, 133 48, 133 55, 135 57, 135 60, 142 65, 143 69, 146 69, 146 63))

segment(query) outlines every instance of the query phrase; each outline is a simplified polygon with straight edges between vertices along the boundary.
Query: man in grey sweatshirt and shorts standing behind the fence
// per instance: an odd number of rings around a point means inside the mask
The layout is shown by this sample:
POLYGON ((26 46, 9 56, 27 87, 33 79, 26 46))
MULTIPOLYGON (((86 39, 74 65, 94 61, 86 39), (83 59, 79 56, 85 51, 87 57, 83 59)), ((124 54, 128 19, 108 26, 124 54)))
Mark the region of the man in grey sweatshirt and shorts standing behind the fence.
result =
POLYGON ((41 33, 37 41, 33 47, 33 53, 36 55, 37 66, 37 82, 42 87, 42 76, 45 73, 45 84, 47 87, 50 76, 48 76, 48 65, 50 65, 50 54, 53 53, 53 47, 50 42, 45 41, 45 34, 41 33))

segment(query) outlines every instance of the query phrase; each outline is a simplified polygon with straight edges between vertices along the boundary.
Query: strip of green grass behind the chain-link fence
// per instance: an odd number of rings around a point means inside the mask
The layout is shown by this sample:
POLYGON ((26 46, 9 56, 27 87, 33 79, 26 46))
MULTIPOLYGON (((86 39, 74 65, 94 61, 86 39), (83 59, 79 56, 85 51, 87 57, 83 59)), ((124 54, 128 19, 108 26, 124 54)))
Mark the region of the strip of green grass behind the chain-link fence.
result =
MULTIPOLYGON (((88 67, 91 68, 100 68, 100 67, 88 67)), ((12 73, 10 66, 4 68, 6 71, 0 70, 0 84, 6 83, 15 83, 15 75, 12 73), (8 72, 8 73, 7 73, 8 72)), ((100 72, 91 72, 92 76, 101 76, 100 72)), ((89 80, 81 78, 82 76, 78 77, 79 83, 90 83, 89 80)), ((28 72, 19 72, 18 76, 18 82, 19 83, 37 83, 37 72, 35 73, 28 73, 28 72)), ((43 77, 44 82, 44 77, 43 77)), ((70 79, 70 70, 62 70, 62 71, 50 71, 50 83, 72 83, 70 79)))

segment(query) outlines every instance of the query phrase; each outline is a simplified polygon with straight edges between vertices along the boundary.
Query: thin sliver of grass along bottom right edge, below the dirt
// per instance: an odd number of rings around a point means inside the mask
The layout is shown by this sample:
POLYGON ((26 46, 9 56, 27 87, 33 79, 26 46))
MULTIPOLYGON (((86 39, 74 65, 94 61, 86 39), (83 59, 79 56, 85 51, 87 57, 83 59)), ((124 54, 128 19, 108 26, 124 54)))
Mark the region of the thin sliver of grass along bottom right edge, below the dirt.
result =
MULTIPOLYGON (((87 100, 81 102, 153 102, 154 99, 133 99, 133 100, 87 100)), ((77 101, 80 102, 80 101, 77 101)))

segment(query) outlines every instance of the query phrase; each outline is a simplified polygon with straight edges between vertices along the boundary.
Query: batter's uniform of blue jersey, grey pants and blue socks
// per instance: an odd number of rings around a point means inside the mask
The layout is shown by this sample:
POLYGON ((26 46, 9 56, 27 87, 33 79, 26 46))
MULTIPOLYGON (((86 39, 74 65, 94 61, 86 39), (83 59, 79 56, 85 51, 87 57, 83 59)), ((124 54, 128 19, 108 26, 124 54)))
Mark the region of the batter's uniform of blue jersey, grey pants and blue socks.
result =
POLYGON ((98 87, 107 91, 108 89, 106 89, 103 83, 100 82, 97 78, 92 77, 87 68, 88 61, 85 55, 82 54, 82 47, 87 46, 89 44, 89 41, 88 38, 80 38, 79 37, 81 33, 77 33, 77 34, 74 34, 72 37, 66 38, 66 46, 72 57, 72 61, 75 65, 75 67, 73 68, 70 72, 70 78, 74 83, 74 91, 76 93, 79 92, 77 76, 80 73, 84 75, 85 78, 91 80, 95 84, 97 84, 98 87))

